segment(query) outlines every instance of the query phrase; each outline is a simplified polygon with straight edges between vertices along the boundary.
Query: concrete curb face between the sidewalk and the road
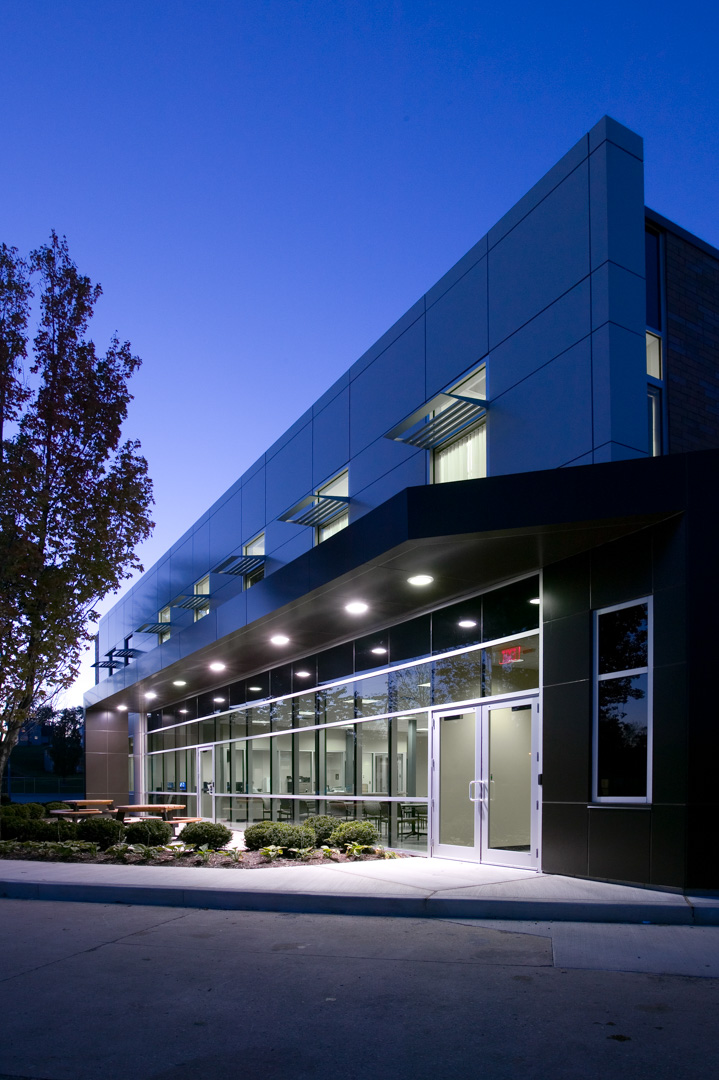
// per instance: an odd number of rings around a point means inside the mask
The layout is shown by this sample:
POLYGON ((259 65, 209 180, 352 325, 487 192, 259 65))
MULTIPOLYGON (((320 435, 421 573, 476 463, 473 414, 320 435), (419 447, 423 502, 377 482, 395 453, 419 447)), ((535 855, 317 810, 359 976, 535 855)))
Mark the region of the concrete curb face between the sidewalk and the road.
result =
POLYGON ((512 919, 539 922, 623 922, 719 926, 719 904, 610 903, 576 900, 461 900, 303 892, 243 892, 159 886, 0 881, 9 900, 137 904, 220 910, 290 912, 312 915, 374 915, 405 918, 512 919))

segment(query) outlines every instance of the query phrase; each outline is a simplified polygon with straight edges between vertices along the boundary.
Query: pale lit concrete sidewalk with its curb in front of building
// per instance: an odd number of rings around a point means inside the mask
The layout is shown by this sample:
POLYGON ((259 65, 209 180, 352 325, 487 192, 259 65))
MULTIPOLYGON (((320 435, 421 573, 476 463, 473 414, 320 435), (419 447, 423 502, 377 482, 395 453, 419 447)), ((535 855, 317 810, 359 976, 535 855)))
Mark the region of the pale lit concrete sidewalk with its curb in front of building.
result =
POLYGON ((3 860, 0 896, 227 910, 719 926, 719 894, 439 859, 213 869, 3 860))

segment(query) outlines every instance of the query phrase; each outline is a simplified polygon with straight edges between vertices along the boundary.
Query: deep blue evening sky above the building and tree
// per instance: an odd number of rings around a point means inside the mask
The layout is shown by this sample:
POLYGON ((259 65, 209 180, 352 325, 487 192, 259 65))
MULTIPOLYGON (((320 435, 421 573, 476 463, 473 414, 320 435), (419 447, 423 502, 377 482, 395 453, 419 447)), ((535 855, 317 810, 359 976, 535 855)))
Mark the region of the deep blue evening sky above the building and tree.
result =
POLYGON ((145 565, 605 112, 719 245, 718 11, 0 0, 0 239, 65 233, 144 359, 145 565))

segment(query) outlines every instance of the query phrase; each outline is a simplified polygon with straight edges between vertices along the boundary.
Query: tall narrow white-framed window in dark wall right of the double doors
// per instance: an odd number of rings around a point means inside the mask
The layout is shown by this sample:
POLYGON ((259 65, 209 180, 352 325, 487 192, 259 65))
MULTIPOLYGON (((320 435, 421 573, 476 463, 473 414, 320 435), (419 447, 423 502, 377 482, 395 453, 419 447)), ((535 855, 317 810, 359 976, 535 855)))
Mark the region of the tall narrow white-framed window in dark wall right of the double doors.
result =
POLYGON ((651 801, 651 598, 596 612, 596 802, 651 801))

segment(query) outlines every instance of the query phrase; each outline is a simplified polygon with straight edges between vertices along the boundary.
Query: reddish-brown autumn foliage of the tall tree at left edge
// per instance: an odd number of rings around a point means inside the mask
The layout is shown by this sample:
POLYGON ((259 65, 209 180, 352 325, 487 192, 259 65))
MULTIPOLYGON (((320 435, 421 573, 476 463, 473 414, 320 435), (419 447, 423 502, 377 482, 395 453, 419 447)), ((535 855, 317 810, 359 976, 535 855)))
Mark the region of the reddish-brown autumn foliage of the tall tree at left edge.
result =
POLYGON ((54 232, 28 259, 0 244, 0 775, 25 720, 73 681, 94 606, 141 569, 152 528, 147 462, 122 441, 140 360, 117 337, 96 353, 100 294, 54 232))

